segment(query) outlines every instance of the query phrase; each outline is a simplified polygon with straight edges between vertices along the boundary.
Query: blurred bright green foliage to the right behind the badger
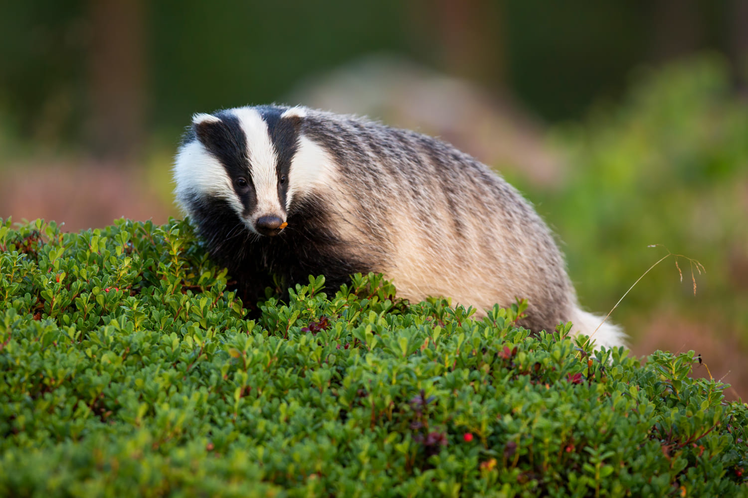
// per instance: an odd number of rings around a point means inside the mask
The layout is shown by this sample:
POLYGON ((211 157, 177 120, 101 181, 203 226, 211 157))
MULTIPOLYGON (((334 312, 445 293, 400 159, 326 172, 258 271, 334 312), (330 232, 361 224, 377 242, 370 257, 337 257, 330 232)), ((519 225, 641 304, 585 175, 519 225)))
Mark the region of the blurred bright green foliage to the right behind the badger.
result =
POLYGON ((651 320, 669 308, 708 323, 717 337, 742 334, 748 347, 748 104, 717 55, 635 81, 623 105, 601 105, 585 122, 555 128, 568 176, 552 192, 524 190, 560 235, 584 305, 610 310, 669 249, 706 273, 679 258, 679 284, 673 259, 663 261, 613 320, 631 325, 631 317, 651 320))

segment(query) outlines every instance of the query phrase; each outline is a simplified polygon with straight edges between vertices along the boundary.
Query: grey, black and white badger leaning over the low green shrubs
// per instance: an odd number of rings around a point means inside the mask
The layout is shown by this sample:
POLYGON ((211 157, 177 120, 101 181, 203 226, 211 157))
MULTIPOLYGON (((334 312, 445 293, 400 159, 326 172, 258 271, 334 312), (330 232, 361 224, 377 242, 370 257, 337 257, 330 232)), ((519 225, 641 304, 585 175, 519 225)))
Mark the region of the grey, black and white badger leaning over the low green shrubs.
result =
MULTIPOLYGON (((528 300, 520 324, 592 334, 548 226, 488 166, 441 140, 356 116, 263 105, 197 113, 174 161, 177 203, 248 299, 281 276, 382 273, 398 296, 473 306, 528 300)), ((599 327, 599 329, 598 329, 599 327)))

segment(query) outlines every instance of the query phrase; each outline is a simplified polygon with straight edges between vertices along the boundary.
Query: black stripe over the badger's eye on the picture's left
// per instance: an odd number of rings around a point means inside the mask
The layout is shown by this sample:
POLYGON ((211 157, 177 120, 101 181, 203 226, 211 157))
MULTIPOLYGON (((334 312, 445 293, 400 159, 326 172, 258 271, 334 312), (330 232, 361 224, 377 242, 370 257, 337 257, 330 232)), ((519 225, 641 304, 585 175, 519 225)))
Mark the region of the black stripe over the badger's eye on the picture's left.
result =
POLYGON ((231 180, 234 192, 245 207, 244 214, 248 215, 251 207, 257 203, 257 193, 252 186, 249 175, 249 160, 247 158, 247 137, 239 125, 239 118, 227 111, 220 111, 214 116, 218 121, 203 121, 193 125, 194 137, 200 140, 208 152, 212 154, 221 166, 224 166, 231 180), (240 189, 236 183, 239 178, 245 178, 248 188, 240 189))

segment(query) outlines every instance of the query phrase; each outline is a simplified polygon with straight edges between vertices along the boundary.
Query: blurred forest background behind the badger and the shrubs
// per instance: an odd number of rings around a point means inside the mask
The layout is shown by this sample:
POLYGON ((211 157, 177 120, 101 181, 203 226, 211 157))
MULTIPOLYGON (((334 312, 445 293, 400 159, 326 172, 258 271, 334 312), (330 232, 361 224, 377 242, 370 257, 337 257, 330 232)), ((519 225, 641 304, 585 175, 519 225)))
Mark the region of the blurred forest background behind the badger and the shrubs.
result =
POLYGON ((191 113, 286 102, 443 137, 563 241, 632 349, 748 397, 748 1, 31 0, 0 15, 0 217, 178 216, 191 113), (648 247, 662 244, 663 247, 648 247), (696 375, 708 376, 703 367, 696 375))

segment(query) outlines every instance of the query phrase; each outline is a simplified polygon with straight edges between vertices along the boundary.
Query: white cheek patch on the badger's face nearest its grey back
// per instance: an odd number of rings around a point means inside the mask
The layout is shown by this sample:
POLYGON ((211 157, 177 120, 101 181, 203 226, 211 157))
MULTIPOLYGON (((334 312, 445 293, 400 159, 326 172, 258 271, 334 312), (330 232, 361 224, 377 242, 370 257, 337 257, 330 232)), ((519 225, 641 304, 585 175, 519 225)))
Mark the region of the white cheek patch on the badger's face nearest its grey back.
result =
POLYGON ((333 160, 325 149, 304 135, 298 137, 298 149, 289 165, 286 210, 292 199, 308 192, 315 184, 332 184, 332 165, 333 160))

